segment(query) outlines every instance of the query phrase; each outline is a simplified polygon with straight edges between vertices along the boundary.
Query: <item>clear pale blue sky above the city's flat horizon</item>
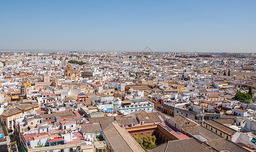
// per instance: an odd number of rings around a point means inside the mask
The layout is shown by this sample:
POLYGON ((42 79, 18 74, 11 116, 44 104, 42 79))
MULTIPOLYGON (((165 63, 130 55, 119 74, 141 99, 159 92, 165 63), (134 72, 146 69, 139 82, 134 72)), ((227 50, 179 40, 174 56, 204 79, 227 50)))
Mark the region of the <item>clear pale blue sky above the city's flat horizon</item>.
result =
POLYGON ((254 52, 256 1, 0 1, 0 49, 254 52))

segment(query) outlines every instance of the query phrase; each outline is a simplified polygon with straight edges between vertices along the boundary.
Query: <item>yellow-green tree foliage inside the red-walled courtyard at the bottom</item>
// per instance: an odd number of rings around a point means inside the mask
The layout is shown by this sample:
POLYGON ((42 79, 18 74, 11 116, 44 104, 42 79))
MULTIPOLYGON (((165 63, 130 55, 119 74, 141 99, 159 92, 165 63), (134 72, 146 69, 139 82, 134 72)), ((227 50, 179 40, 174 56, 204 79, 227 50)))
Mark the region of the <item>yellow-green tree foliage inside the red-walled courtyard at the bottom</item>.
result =
POLYGON ((143 147, 146 151, 147 149, 153 148, 156 146, 156 137, 152 135, 147 135, 144 137, 132 135, 132 137, 138 142, 138 144, 143 147))

